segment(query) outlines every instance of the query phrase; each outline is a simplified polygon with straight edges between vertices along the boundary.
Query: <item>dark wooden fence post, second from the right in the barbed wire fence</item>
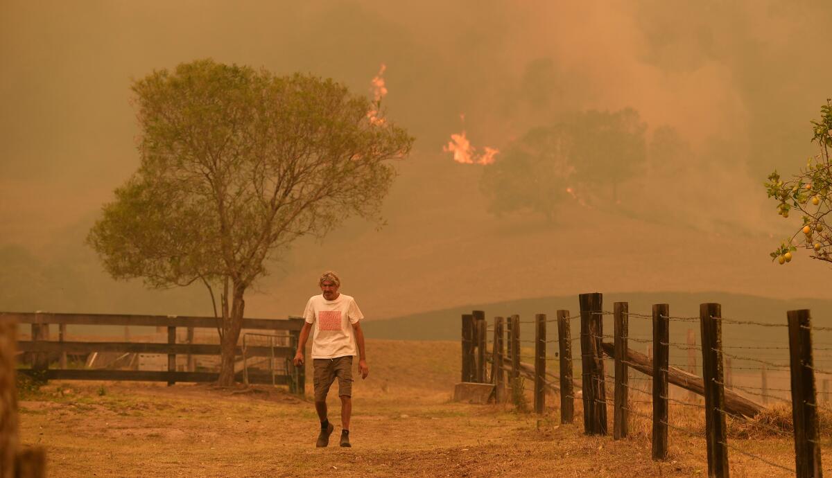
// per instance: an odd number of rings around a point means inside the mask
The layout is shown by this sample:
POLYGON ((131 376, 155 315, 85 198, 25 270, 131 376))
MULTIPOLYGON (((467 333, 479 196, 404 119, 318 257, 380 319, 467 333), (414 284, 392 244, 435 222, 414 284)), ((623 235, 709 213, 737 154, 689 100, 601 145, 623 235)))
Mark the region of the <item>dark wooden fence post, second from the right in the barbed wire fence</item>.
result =
POLYGON ((725 389, 722 377, 722 306, 699 306, 702 342, 702 381, 705 386, 705 433, 708 451, 708 476, 727 478, 728 446, 725 389))

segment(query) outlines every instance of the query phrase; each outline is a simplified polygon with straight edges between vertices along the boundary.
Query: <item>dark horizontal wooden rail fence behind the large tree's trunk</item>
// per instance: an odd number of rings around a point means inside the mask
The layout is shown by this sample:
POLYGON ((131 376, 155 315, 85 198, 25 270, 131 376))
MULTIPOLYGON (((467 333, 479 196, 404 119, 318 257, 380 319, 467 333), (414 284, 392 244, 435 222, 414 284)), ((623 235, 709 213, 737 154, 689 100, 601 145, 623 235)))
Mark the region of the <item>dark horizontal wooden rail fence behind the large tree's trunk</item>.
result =
MULTIPOLYGON (((215 382, 219 372, 196 372, 194 370, 177 371, 176 356, 186 355, 220 355, 219 343, 194 343, 195 328, 210 328, 216 330, 218 319, 212 317, 177 317, 161 315, 114 315, 91 313, 0 313, 0 323, 28 323, 32 326, 31 340, 17 342, 17 350, 26 352, 32 357, 31 368, 20 368, 19 373, 37 376, 43 379, 58 380, 133 380, 149 382, 215 382), (57 324, 58 340, 49 340, 49 325, 57 324), (167 328, 167 342, 73 342, 67 340, 67 325, 85 326, 149 326, 167 328), (176 342, 176 329, 186 328, 186 343, 176 342), (167 355, 166 371, 151 370, 95 370, 67 368, 67 354, 88 354, 92 352, 124 352, 149 353, 167 355), (50 367, 50 357, 58 357, 58 368, 50 367)), ((248 383, 272 383, 288 385, 290 390, 300 395, 304 394, 305 367, 294 367, 290 360, 295 356, 300 328, 303 327, 302 318, 265 319, 244 318, 242 328, 266 331, 269 333, 285 333, 288 345, 277 345, 271 342, 269 346, 248 345, 237 347, 238 357, 270 357, 285 358, 286 373, 275 375, 274 368, 269 372, 249 372, 247 368, 236 374, 238 380, 248 383)), ((260 335, 260 334, 252 334, 260 335)), ((244 336, 245 337, 245 336, 244 336)), ((245 344, 245 342, 244 342, 245 344)))

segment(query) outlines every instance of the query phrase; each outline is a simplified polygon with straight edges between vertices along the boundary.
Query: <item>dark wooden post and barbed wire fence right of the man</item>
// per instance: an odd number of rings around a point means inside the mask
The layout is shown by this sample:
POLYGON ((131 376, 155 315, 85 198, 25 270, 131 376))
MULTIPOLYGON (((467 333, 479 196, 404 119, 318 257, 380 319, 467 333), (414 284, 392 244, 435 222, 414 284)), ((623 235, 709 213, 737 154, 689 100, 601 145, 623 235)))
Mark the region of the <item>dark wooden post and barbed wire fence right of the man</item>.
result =
MULTIPOLYGON (((571 316, 567 310, 558 310, 557 318, 547 320, 545 314, 537 314, 533 321, 521 321, 518 316, 510 318, 496 317, 493 321, 492 350, 487 352, 486 342, 488 326, 484 313, 463 315, 463 381, 493 383, 493 397, 497 402, 505 402, 507 387, 522 387, 517 380, 505 382, 508 378, 525 376, 533 381, 534 410, 544 412, 545 392, 556 392, 560 395, 560 413, 562 423, 573 421, 575 388, 580 388, 583 405, 583 427, 587 435, 607 435, 607 407, 613 410, 613 438, 618 440, 628 436, 628 421, 631 416, 641 416, 651 421, 651 455, 656 461, 666 460, 668 456, 668 429, 696 436, 696 433, 684 427, 673 426, 669 420, 671 402, 679 405, 700 407, 704 421, 705 440, 707 447, 708 476, 727 477, 729 473, 729 451, 749 456, 754 460, 765 462, 770 466, 788 471, 798 478, 823 476, 820 453, 820 424, 818 411, 824 408, 817 400, 815 390, 815 372, 832 375, 832 372, 815 367, 813 357, 813 332, 832 332, 832 328, 814 327, 811 324, 809 310, 789 311, 785 323, 760 323, 742 321, 722 317, 721 305, 718 303, 703 303, 698 317, 671 316, 668 304, 655 304, 650 314, 631 313, 629 304, 615 303, 613 311, 604 312, 602 308, 602 294, 586 293, 579 296, 580 313, 571 316), (605 335, 603 318, 612 316, 613 333, 605 335), (631 338, 629 319, 640 318, 650 321, 651 338, 631 338), (580 321, 581 335, 570 337, 570 323, 580 321), (503 323, 505 321, 508 333, 504 338, 503 323), (547 340, 546 324, 557 322, 557 340, 547 340), (688 331, 686 343, 671 342, 670 325, 673 322, 698 323, 701 335, 701 346, 697 347, 693 333, 688 331), (533 340, 520 340, 520 324, 532 323, 535 330, 533 340), (788 363, 773 363, 768 358, 742 357, 735 353, 724 351, 722 328, 723 325, 735 327, 764 327, 785 328, 788 335, 788 347, 765 346, 732 346, 730 348, 754 349, 755 352, 766 348, 786 349, 789 354, 788 363), (604 342, 604 339, 609 339, 604 342), (582 380, 580 385, 572 379, 572 342, 580 341, 580 361, 582 380), (641 354, 631 350, 629 341, 650 344, 653 355, 641 354), (533 364, 520 360, 521 342, 533 344, 533 364), (547 357, 547 343, 557 342, 555 357, 547 357), (504 347, 505 344, 505 347, 504 347), (702 375, 697 376, 691 367, 684 370, 674 367, 669 361, 670 349, 675 347, 688 352, 688 364, 695 363, 698 351, 702 357, 702 375), (505 350, 504 350, 505 348, 505 350), (614 375, 605 372, 604 360, 612 358, 614 361, 614 375), (740 387, 732 390, 726 387, 728 372, 726 362, 734 358, 735 361, 759 363, 762 367, 745 367, 761 371, 762 387, 740 387), (490 360, 489 360, 490 359, 490 360), (547 372, 547 361, 559 362, 558 375, 547 372), (490 377, 486 373, 487 363, 491 362, 490 377), (765 405, 746 398, 740 392, 750 393, 755 397, 772 398, 768 394, 767 372, 771 367, 779 367, 790 374, 790 388, 779 389, 790 393, 790 400, 778 398, 782 402, 790 403, 794 432, 787 432, 773 426, 768 426, 781 437, 794 439, 795 468, 783 463, 770 461, 764 456, 755 455, 742 447, 732 444, 728 440, 726 417, 736 420, 748 420, 765 405), (641 372, 650 377, 651 392, 639 391, 631 386, 633 371, 641 372), (607 386, 612 381, 612 401, 607 399, 607 386), (668 385, 689 391, 688 397, 704 397, 704 404, 691 400, 687 402, 674 399, 669 394, 668 385), (740 392, 738 392, 740 391, 740 392), (651 396, 649 401, 634 400, 630 392, 641 392, 651 396), (648 414, 634 407, 634 402, 651 403, 652 413, 648 414)), ((821 348, 832 350, 832 348, 821 348)), ((730 362, 728 362, 730 363, 730 362)), ((828 390, 828 381, 824 381, 828 390)), ((513 396, 516 394, 513 393, 513 396)), ((774 397, 777 398, 777 397, 774 397)), ((765 402, 764 402, 765 403, 765 402)), ((826 408, 832 411, 830 408, 826 408)))

